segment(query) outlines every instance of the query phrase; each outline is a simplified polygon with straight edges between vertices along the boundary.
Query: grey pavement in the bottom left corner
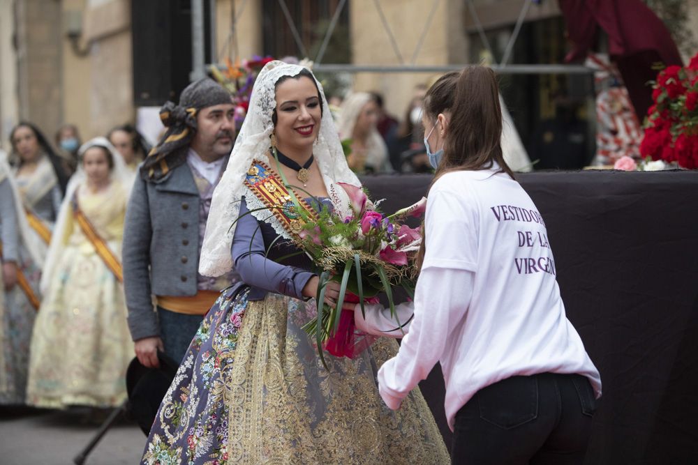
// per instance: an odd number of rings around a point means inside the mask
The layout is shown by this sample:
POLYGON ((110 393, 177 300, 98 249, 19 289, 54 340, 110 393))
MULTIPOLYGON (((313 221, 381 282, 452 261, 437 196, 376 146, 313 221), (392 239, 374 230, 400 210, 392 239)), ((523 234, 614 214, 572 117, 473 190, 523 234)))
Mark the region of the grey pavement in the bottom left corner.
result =
MULTIPOLYGON (((72 465, 99 429, 84 418, 84 411, 0 409, 0 464, 72 465)), ((136 465, 145 440, 135 423, 121 418, 84 464, 136 465)))

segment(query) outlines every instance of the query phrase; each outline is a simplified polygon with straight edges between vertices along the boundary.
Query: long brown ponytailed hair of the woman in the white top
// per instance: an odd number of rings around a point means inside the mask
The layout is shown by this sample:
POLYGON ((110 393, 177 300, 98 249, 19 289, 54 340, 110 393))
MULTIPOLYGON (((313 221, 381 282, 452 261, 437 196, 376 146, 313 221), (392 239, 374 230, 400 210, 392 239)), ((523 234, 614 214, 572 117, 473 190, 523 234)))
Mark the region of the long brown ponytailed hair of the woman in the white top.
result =
MULTIPOLYGON (((440 77, 426 91, 424 115, 436 123, 440 113, 450 114, 448 131, 431 186, 451 171, 481 170, 493 167, 514 179, 514 173, 502 153, 502 108, 494 71, 485 66, 470 66, 440 77)), ((424 229, 417 267, 424 261, 424 229)))

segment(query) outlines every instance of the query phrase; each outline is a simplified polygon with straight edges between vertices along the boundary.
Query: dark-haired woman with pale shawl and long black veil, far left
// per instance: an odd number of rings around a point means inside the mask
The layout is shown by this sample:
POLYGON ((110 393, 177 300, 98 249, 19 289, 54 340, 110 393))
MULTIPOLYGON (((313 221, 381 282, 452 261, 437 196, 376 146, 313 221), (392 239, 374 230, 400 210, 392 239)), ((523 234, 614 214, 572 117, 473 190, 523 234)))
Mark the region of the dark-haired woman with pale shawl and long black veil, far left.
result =
MULTIPOLYGON (((58 218, 68 176, 61 159, 46 137, 31 123, 19 123, 10 134, 10 165, 22 197, 29 226, 44 243, 51 241, 51 231, 58 218)), ((42 251, 42 255, 45 250, 42 251)))

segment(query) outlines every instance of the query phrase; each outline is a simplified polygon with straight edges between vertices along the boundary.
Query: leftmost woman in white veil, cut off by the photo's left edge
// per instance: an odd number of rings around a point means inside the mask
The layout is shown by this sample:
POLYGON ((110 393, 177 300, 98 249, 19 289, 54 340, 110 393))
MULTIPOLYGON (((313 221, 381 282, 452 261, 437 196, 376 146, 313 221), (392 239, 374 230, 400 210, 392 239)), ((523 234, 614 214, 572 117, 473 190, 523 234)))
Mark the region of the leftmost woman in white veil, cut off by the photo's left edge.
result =
POLYGON ((0 404, 24 404, 29 341, 40 304, 42 245, 31 234, 20 193, 0 151, 0 404))

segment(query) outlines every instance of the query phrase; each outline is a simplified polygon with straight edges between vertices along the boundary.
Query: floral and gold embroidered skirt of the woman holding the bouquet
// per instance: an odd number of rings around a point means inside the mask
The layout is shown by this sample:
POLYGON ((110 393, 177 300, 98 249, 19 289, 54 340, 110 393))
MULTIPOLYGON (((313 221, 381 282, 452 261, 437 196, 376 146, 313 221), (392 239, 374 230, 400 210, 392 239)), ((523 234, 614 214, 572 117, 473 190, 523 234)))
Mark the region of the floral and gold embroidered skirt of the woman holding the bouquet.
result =
POLYGON ((314 300, 218 298, 160 406, 144 464, 448 464, 419 390, 393 412, 376 374, 397 343, 322 366, 302 326, 314 300))

